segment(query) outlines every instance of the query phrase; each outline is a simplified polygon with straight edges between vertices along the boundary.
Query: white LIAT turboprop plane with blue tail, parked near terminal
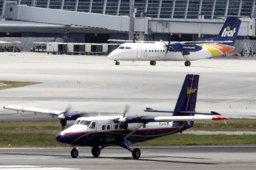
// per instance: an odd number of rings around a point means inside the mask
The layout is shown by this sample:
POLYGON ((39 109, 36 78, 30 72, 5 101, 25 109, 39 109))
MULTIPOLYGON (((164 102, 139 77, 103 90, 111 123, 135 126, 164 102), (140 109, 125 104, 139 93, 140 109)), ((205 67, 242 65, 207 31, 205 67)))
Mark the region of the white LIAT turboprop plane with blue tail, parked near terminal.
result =
POLYGON ((185 66, 190 66, 190 61, 233 51, 240 24, 237 17, 228 16, 218 37, 196 42, 170 42, 170 38, 169 42, 108 40, 123 42, 108 58, 116 61, 116 65, 126 60, 150 61, 150 65, 156 65, 156 61, 185 61, 185 66))

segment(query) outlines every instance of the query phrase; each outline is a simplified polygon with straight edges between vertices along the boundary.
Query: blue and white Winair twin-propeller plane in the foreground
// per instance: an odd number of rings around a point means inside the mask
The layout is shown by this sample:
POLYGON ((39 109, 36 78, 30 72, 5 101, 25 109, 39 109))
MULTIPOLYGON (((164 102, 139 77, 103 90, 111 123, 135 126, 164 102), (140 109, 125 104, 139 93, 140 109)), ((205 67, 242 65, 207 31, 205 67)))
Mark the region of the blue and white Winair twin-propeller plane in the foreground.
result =
MULTIPOLYGON (((99 156, 106 146, 117 145, 132 152, 134 159, 140 158, 140 149, 131 149, 130 144, 143 142, 154 138, 182 132, 193 127, 194 121, 218 121, 228 118, 211 111, 199 113, 195 111, 198 91, 199 75, 188 74, 184 80, 176 106, 173 111, 154 110, 146 108, 144 111, 172 113, 172 116, 127 116, 126 107, 123 116, 84 115, 79 117, 74 125, 63 130, 56 136, 58 142, 71 144, 71 156, 78 156, 77 146, 92 146, 92 155, 99 156)), ((24 111, 20 106, 6 105, 4 109, 24 111)), ((56 111, 26 107, 26 111, 33 113, 56 114, 56 111)), ((66 114, 60 113, 60 117, 66 114)), ((79 115, 79 112, 74 112, 79 115)), ((80 114, 81 115, 81 114, 80 114)), ((63 119, 64 120, 64 119, 63 119)))

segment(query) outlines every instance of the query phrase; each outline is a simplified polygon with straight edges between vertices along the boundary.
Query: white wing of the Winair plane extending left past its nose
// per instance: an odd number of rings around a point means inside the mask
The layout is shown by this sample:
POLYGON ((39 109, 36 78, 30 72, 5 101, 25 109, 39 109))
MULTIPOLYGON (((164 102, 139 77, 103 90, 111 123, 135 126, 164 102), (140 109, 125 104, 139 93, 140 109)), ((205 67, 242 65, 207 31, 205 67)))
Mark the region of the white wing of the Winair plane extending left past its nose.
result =
POLYGON ((64 111, 57 111, 57 110, 49 110, 49 109, 40 109, 36 107, 24 107, 24 106, 17 106, 17 105, 6 105, 4 109, 14 110, 14 111, 22 111, 22 112, 32 112, 32 113, 42 113, 48 114, 52 116, 58 116, 60 113, 64 111))

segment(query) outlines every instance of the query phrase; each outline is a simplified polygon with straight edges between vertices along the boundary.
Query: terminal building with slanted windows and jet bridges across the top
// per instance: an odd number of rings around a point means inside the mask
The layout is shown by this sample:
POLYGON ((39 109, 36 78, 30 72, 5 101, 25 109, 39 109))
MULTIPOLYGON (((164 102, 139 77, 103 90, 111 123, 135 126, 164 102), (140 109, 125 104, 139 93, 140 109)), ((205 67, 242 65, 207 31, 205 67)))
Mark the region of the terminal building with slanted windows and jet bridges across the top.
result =
MULTIPOLYGON (((241 16, 238 39, 256 35, 256 0, 134 0, 139 40, 196 41, 218 35, 224 16, 241 16)), ((130 0, 0 0, 0 38, 128 40, 130 0)), ((1 40, 1 39, 0 39, 1 40)), ((255 48, 256 49, 256 48, 255 48)))

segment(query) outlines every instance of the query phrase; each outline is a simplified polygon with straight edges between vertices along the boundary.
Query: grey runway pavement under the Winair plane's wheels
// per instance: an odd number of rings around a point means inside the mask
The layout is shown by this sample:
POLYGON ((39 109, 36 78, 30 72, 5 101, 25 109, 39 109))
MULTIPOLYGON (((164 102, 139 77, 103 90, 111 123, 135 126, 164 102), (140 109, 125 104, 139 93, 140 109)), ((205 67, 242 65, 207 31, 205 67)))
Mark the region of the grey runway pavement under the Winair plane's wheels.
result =
POLYGON ((172 170, 255 170, 256 145, 234 146, 159 146, 140 147, 142 155, 119 147, 107 147, 99 157, 91 148, 78 148, 78 158, 70 156, 71 148, 0 148, 0 170, 67 169, 172 169, 172 170), (13 166, 21 166, 14 167, 13 166))

